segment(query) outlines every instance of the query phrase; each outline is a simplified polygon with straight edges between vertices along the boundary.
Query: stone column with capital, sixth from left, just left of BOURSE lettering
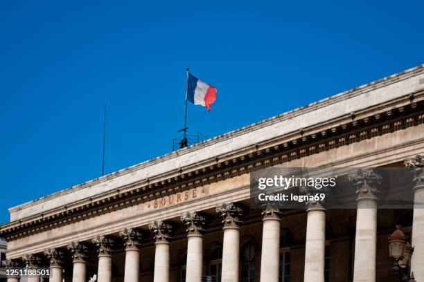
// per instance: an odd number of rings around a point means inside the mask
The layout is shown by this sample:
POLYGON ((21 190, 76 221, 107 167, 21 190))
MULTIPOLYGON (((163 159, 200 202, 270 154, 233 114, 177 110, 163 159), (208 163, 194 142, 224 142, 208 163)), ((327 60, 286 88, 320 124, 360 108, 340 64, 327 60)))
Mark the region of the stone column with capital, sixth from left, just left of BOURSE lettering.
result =
POLYGON ((139 282, 141 233, 134 228, 125 228, 119 235, 125 245, 124 282, 139 282))

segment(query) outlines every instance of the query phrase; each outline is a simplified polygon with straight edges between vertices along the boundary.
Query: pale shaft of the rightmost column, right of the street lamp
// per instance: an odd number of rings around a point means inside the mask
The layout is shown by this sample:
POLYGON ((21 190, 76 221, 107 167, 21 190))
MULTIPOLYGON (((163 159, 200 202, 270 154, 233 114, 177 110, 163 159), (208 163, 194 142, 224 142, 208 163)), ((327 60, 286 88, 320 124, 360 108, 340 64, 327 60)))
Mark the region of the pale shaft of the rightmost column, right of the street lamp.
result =
MULTIPOLYGON (((416 189, 414 195, 415 203, 424 203, 424 187, 416 189)), ((416 281, 424 281, 424 209, 414 209, 412 227, 412 254, 411 271, 414 272, 416 281)))

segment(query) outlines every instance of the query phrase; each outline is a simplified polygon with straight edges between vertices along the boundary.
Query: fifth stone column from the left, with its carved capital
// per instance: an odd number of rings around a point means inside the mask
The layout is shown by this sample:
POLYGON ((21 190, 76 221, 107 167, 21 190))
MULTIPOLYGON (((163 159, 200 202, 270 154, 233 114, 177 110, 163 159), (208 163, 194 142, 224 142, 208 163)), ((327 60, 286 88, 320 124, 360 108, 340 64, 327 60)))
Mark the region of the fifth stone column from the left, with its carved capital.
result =
POLYGON ((114 241, 106 235, 97 236, 93 239, 93 244, 98 252, 97 281, 112 281, 112 246, 114 241))

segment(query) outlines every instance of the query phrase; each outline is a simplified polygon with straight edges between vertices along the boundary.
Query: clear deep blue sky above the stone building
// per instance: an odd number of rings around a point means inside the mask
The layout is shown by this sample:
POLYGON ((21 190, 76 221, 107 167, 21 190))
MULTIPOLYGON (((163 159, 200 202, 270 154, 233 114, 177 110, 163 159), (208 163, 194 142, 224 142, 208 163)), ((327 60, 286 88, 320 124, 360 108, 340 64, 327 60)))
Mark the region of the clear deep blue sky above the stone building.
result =
POLYGON ((185 68, 218 88, 213 137, 424 63, 423 1, 3 1, 7 208, 168 153, 185 68))

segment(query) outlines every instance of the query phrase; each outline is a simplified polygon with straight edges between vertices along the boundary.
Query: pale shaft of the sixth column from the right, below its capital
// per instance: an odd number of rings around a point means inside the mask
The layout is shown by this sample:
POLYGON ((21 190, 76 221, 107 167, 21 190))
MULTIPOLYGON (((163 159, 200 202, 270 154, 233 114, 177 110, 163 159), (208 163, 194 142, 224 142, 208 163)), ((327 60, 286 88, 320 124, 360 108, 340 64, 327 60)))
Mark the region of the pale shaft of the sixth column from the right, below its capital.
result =
POLYGON ((202 281, 203 265, 203 236, 200 234, 188 235, 186 282, 202 281))

